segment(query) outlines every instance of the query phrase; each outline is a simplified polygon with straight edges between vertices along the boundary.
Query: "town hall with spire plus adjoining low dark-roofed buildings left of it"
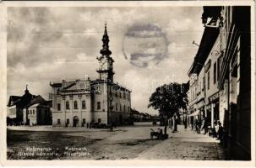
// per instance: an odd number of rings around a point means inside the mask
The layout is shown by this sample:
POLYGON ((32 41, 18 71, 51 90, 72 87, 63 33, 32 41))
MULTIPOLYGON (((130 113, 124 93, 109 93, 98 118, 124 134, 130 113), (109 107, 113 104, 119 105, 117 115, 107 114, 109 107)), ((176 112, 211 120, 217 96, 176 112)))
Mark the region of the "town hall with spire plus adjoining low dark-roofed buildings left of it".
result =
POLYGON ((97 57, 98 79, 50 82, 52 92, 49 101, 40 95, 31 95, 27 89, 22 97, 11 96, 8 123, 65 127, 131 123, 131 91, 113 81, 114 60, 108 46, 106 26, 102 42, 101 56, 97 57))

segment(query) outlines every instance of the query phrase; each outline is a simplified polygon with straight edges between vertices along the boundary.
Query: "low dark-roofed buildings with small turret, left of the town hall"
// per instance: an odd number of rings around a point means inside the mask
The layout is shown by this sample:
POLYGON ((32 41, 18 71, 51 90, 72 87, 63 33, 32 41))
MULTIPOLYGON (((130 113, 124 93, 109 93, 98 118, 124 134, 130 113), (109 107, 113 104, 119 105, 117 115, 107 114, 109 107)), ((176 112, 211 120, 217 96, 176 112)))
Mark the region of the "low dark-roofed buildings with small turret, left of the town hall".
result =
POLYGON ((40 95, 30 94, 28 88, 23 96, 10 96, 8 101, 8 125, 52 124, 51 101, 40 95))

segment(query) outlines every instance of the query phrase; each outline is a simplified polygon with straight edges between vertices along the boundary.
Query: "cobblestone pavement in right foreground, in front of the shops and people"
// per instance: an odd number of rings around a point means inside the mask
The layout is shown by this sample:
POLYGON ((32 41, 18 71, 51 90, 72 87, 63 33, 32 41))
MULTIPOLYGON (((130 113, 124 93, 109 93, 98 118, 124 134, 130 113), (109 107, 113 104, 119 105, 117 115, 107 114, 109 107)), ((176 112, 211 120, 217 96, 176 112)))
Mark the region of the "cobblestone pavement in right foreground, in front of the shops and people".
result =
POLYGON ((178 132, 169 129, 169 139, 144 150, 137 160, 226 160, 219 141, 205 134, 193 133, 178 126, 178 132))

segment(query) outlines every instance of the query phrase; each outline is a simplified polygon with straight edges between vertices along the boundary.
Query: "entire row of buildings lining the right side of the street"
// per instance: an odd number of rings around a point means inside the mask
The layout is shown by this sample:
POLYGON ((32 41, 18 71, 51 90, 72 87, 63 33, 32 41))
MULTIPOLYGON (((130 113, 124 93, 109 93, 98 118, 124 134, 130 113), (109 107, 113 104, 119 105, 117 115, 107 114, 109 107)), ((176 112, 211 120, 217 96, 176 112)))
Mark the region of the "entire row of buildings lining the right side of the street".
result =
POLYGON ((188 71, 189 123, 221 122, 231 159, 251 160, 250 7, 204 7, 204 34, 188 71))

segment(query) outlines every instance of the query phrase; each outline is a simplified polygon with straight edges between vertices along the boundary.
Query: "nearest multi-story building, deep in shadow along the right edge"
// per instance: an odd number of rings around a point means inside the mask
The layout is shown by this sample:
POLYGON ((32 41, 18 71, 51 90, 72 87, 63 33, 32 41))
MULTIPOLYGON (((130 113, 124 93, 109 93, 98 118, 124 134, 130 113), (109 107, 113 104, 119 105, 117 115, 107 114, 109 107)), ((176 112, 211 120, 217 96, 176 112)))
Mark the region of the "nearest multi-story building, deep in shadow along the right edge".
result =
POLYGON ((251 159, 251 8, 223 7, 219 80, 226 146, 232 159, 251 159), (241 17, 242 16, 242 17, 241 17))

